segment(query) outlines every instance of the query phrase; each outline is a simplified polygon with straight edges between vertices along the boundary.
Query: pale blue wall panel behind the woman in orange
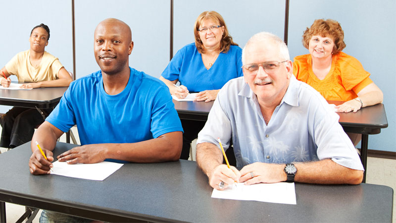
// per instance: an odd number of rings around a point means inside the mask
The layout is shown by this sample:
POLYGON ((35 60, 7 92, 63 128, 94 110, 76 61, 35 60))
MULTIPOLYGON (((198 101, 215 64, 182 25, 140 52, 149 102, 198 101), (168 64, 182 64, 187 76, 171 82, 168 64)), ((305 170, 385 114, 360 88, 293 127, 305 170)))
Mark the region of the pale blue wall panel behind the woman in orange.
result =
POLYGON ((347 47, 383 91, 389 127, 369 136, 368 148, 396 152, 396 1, 395 0, 290 0, 288 45, 291 57, 308 54, 302 32, 315 19, 341 23, 347 47))

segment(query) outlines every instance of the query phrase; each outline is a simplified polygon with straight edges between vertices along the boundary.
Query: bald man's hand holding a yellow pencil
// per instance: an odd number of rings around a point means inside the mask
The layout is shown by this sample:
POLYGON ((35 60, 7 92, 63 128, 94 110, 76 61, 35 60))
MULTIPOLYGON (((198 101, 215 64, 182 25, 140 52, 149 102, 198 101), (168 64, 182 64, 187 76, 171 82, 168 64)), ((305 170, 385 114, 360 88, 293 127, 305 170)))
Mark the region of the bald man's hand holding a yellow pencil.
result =
POLYGON ((44 158, 40 150, 34 151, 29 160, 30 173, 34 175, 50 173, 50 167, 53 167, 51 163, 53 161, 53 154, 46 149, 43 149, 43 152, 46 154, 48 160, 44 158))

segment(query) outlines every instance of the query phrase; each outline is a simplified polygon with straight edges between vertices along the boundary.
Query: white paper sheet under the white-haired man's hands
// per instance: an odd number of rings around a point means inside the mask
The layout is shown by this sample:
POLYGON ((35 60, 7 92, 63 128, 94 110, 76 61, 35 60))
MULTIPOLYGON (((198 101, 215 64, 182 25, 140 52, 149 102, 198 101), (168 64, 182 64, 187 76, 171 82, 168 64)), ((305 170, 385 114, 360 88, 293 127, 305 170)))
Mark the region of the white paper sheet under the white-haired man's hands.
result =
POLYGON ((297 204, 294 183, 287 182, 252 185, 237 183, 237 186, 234 185, 225 190, 213 189, 212 198, 297 204))

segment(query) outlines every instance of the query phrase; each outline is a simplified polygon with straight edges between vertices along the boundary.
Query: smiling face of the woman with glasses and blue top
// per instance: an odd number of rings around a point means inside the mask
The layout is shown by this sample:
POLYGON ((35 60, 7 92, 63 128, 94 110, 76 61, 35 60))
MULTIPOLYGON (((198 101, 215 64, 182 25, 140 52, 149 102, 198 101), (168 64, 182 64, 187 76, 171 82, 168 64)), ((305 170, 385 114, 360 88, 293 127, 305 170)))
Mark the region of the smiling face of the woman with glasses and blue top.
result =
POLYGON ((199 30, 202 28, 207 28, 206 32, 198 32, 199 39, 202 41, 202 45, 205 49, 217 49, 220 48, 220 42, 224 33, 224 26, 217 29, 210 30, 209 27, 218 26, 217 22, 212 19, 202 20, 199 30))

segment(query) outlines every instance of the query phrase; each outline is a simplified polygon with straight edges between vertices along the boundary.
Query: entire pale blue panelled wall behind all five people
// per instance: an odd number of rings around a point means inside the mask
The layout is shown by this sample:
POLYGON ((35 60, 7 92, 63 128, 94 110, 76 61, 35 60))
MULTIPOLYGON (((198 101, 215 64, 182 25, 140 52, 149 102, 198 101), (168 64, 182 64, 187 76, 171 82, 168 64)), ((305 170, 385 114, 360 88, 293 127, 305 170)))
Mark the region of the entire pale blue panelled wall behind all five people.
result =
MULTIPOLYGON (((396 1, 290 0, 288 45, 291 57, 307 54, 301 35, 314 19, 341 22, 349 55, 361 61, 384 92, 389 127, 369 136, 369 149, 396 152, 396 1)), ((225 19, 234 41, 242 48, 260 31, 284 37, 284 0, 174 0, 173 54, 194 41, 194 22, 202 11, 215 10, 225 19)), ((31 29, 49 25, 46 51, 59 57, 69 71, 72 64, 71 0, 13 0, 1 2, 0 66, 29 49, 31 29)), ((93 35, 103 19, 115 17, 132 29, 135 43, 130 66, 159 77, 169 61, 170 0, 76 0, 76 75, 99 70, 93 35)), ((0 106, 0 112, 8 107, 0 106)))

